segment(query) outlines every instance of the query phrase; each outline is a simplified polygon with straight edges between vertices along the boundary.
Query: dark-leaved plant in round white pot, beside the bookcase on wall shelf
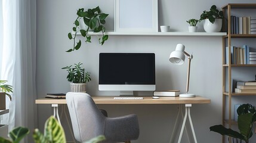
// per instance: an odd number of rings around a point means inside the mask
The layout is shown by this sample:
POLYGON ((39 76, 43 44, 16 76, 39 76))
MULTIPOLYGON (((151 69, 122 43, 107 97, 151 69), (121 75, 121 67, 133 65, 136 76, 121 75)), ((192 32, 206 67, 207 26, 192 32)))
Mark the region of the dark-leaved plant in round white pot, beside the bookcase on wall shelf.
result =
POLYGON ((203 20, 203 29, 206 32, 220 32, 223 18, 223 11, 217 10, 216 5, 212 5, 209 11, 203 11, 200 21, 203 20))

